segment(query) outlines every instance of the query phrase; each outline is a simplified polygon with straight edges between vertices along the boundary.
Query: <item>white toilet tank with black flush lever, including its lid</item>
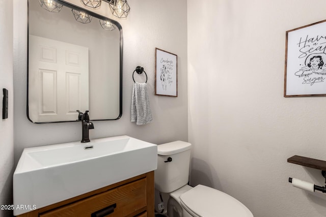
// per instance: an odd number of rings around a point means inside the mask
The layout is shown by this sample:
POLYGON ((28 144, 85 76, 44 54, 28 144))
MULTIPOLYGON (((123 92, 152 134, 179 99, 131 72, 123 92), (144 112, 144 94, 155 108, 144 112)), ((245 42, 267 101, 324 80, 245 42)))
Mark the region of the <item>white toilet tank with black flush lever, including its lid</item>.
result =
POLYGON ((188 183, 191 146, 183 141, 157 146, 157 169, 154 171, 156 190, 170 193, 188 183))

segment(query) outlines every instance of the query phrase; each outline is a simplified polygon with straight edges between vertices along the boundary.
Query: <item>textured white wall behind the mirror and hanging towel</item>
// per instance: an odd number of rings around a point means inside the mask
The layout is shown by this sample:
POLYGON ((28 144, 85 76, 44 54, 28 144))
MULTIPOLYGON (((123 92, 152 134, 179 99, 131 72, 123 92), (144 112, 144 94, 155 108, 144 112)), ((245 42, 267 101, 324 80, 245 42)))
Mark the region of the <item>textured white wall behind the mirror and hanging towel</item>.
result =
MULTIPOLYGON (((34 0, 35 1, 35 0, 34 0)), ((78 141, 79 122, 37 125, 26 118, 26 5, 15 0, 15 161, 25 147, 78 141), (18 4, 20 3, 20 4, 18 4), (18 13, 19 12, 19 13, 18 13)), ((80 1, 76 4, 82 6, 80 1)), ((186 0, 128 1, 130 15, 119 21, 123 29, 123 114, 113 121, 94 121, 90 138, 129 135, 156 144, 187 140, 187 14, 186 0), (170 7, 170 5, 174 7, 170 7), (178 55, 178 97, 154 95, 155 47, 178 55), (150 104, 154 121, 145 126, 130 122, 132 72, 144 67, 148 75, 150 104)), ((101 6, 102 7, 102 6, 101 6)), ((109 10, 109 9, 107 9, 109 10)), ((137 79, 135 77, 135 79, 137 79)))

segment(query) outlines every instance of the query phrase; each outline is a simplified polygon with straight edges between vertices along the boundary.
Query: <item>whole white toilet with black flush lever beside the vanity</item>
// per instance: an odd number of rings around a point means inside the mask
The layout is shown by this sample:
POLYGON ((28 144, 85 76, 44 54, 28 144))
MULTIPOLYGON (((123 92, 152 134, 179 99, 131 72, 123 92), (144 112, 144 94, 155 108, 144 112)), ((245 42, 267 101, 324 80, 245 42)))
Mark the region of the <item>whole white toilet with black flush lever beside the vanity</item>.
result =
POLYGON ((235 198, 219 190, 187 185, 191 144, 175 141, 157 146, 155 189, 169 193, 169 217, 253 217, 251 211, 235 198))

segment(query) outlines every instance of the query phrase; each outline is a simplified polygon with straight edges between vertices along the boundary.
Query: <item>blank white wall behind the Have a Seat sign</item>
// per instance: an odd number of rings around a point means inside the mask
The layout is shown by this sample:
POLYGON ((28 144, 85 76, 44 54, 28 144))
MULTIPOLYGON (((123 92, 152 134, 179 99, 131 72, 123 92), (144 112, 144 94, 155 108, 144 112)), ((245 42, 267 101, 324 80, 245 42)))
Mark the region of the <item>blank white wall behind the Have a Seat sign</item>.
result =
POLYGON ((325 216, 320 171, 287 163, 326 160, 324 97, 284 98, 285 32, 324 20, 322 0, 188 0, 192 184, 222 190, 261 217, 325 216))

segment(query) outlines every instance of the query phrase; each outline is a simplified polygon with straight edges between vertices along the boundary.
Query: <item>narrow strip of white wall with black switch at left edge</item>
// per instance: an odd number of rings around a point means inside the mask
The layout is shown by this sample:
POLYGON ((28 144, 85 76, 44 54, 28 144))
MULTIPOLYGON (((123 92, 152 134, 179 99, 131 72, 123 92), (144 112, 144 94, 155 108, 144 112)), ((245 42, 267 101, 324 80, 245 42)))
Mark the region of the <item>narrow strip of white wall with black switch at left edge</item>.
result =
MULTIPOLYGON (((12 204, 14 166, 14 99, 13 99, 13 3, 3 1, 0 7, 0 205, 12 204), (9 92, 8 119, 2 119, 3 88, 9 92)), ((0 216, 11 211, 0 210, 0 216)))

